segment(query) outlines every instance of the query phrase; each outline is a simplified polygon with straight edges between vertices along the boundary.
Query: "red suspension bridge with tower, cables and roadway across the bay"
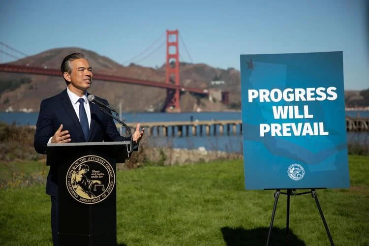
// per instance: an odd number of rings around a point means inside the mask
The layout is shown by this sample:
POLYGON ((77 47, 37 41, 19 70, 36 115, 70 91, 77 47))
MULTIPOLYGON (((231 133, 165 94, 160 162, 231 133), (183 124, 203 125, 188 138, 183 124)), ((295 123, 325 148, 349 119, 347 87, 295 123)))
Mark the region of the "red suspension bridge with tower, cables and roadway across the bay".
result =
MULTIPOLYGON (((162 36, 160 36, 161 38, 162 36)), ((167 96, 165 99, 165 110, 167 112, 181 112, 181 106, 180 106, 180 99, 181 99, 181 92, 191 92, 194 94, 201 94, 201 95, 209 95, 209 89, 200 89, 200 88, 192 88, 192 87, 183 87, 180 83, 180 54, 179 54, 179 31, 166 31, 166 41, 162 43, 160 46, 158 46, 153 52, 145 56, 144 58, 140 59, 137 62, 140 62, 150 55, 152 55, 154 52, 156 52, 159 48, 161 48, 164 44, 166 44, 166 73, 165 73, 165 83, 162 82, 155 82, 155 81, 149 81, 149 80, 141 80, 141 79, 135 79, 135 78, 129 78, 129 77, 122 77, 122 76, 112 76, 107 74, 99 74, 99 73, 93 73, 93 78, 97 80, 102 81, 109 81, 109 82, 117 82, 117 83, 127 83, 127 84, 135 84, 135 85, 142 85, 142 86, 149 86, 149 87, 157 87, 157 88, 163 88, 167 90, 167 96)), ((180 36, 181 37, 181 36, 180 36)), ((148 48, 146 48, 144 51, 140 52, 140 54, 134 56, 132 59, 128 60, 127 62, 130 62, 145 52, 147 52, 149 49, 154 47, 154 45, 160 40, 157 39, 152 45, 150 45, 148 48)), ((181 37, 182 43, 184 44, 184 41, 181 37)), ((26 56, 27 55, 17 49, 14 49, 13 47, 4 44, 0 42, 0 45, 3 47, 18 53, 19 55, 26 56)), ((187 52, 187 55, 189 56, 190 60, 192 61, 192 58, 184 44, 184 48, 187 52)), ((8 57, 11 57, 13 59, 18 59, 18 57, 0 50, 1 54, 4 54, 8 57)), ((126 62, 123 62, 126 63, 126 62)), ((1 72, 10 72, 10 73, 27 73, 27 74, 38 74, 38 75, 48 75, 48 76, 62 76, 62 72, 58 69, 50 69, 46 67, 32 67, 32 66, 24 66, 24 65, 14 65, 14 64, 7 64, 3 63, 0 64, 0 71, 1 72)), ((221 92, 222 95, 222 102, 227 104, 228 103, 228 92, 221 92)))

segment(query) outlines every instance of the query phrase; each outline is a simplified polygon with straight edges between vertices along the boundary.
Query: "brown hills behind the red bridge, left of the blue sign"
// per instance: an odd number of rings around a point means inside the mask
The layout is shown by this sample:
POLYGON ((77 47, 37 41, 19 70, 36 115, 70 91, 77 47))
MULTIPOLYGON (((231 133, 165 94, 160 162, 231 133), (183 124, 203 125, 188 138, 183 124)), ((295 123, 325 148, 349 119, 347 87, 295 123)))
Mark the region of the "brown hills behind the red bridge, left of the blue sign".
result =
MULTIPOLYGON (((157 82, 165 81, 165 66, 157 69, 135 64, 123 66, 107 57, 81 48, 47 50, 12 62, 12 64, 60 69, 62 59, 73 52, 85 54, 95 73, 157 82)), ((208 88, 209 82, 213 78, 226 80, 227 91, 230 91, 230 102, 233 103, 232 105, 240 104, 240 73, 235 69, 224 70, 206 64, 181 63, 180 77, 184 86, 195 88, 208 88)), ((0 72, 0 111, 9 108, 14 111, 24 109, 38 111, 42 99, 53 96, 63 89, 65 89, 65 82, 62 77, 0 72)), ((89 92, 106 98, 113 107, 118 108, 119 104, 122 103, 122 109, 126 112, 161 111, 166 97, 166 91, 163 89, 99 80, 93 80, 89 92)), ((228 110, 228 107, 222 103, 210 102, 207 98, 197 97, 189 93, 181 95, 181 108, 182 111, 228 110)))

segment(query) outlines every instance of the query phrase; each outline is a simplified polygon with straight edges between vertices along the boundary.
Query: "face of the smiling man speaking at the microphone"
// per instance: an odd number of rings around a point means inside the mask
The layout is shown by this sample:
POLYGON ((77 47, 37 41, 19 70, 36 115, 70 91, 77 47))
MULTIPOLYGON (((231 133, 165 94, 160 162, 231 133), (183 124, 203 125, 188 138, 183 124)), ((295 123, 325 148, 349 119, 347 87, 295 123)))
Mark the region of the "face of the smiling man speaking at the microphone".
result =
POLYGON ((92 68, 86 59, 76 59, 70 62, 72 72, 64 74, 64 78, 70 82, 69 86, 86 91, 92 84, 92 68))

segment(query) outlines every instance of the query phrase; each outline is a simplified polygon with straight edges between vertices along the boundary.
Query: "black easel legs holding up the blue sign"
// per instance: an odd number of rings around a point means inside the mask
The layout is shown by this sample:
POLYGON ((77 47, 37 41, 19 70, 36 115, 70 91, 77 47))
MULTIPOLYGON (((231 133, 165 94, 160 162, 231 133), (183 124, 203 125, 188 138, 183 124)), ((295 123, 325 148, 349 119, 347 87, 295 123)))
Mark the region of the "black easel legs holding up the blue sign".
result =
POLYGON ((325 230, 327 231, 329 241, 331 242, 331 245, 334 246, 335 244, 333 243, 332 236, 331 236, 331 233, 329 232, 327 222, 325 221, 323 211, 322 211, 322 208, 320 207, 320 204, 319 204, 319 201, 318 201, 318 195, 316 194, 315 189, 311 189, 311 191, 301 192, 301 193, 294 193, 294 191, 296 191, 296 189, 287 189, 287 193, 285 193, 285 192, 280 192, 280 189, 277 189, 276 193, 274 193, 275 200, 274 200, 274 207, 273 207, 273 212, 272 212, 272 219, 270 221, 270 226, 269 226, 267 246, 269 246, 269 239, 270 239, 270 235, 271 235, 272 228, 273 228, 274 216, 276 215, 276 209, 277 209, 277 202, 278 202, 279 194, 287 195, 287 216, 286 216, 286 240, 287 240, 287 244, 288 244, 288 238, 290 236, 289 235, 290 196, 311 194, 311 197, 315 199, 316 206, 318 207, 320 216, 322 217, 323 224, 324 224, 325 230))

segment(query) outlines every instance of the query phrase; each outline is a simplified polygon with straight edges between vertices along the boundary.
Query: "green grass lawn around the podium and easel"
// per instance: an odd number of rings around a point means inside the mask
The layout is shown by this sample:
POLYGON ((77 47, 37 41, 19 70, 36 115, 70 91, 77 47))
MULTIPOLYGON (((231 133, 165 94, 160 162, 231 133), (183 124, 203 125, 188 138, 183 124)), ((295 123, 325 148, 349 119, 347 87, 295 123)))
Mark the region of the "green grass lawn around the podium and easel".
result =
MULTIPOLYGON (((336 245, 369 245, 369 157, 349 161, 351 188, 317 190, 318 198, 336 245)), ((119 171, 118 244, 265 245, 273 194, 244 189, 242 160, 119 171)), ((286 244, 286 200, 271 245, 286 244)), ((329 245, 311 195, 291 197, 290 229, 290 245, 329 245)), ((0 245, 51 245, 44 184, 0 189, 0 245)))

